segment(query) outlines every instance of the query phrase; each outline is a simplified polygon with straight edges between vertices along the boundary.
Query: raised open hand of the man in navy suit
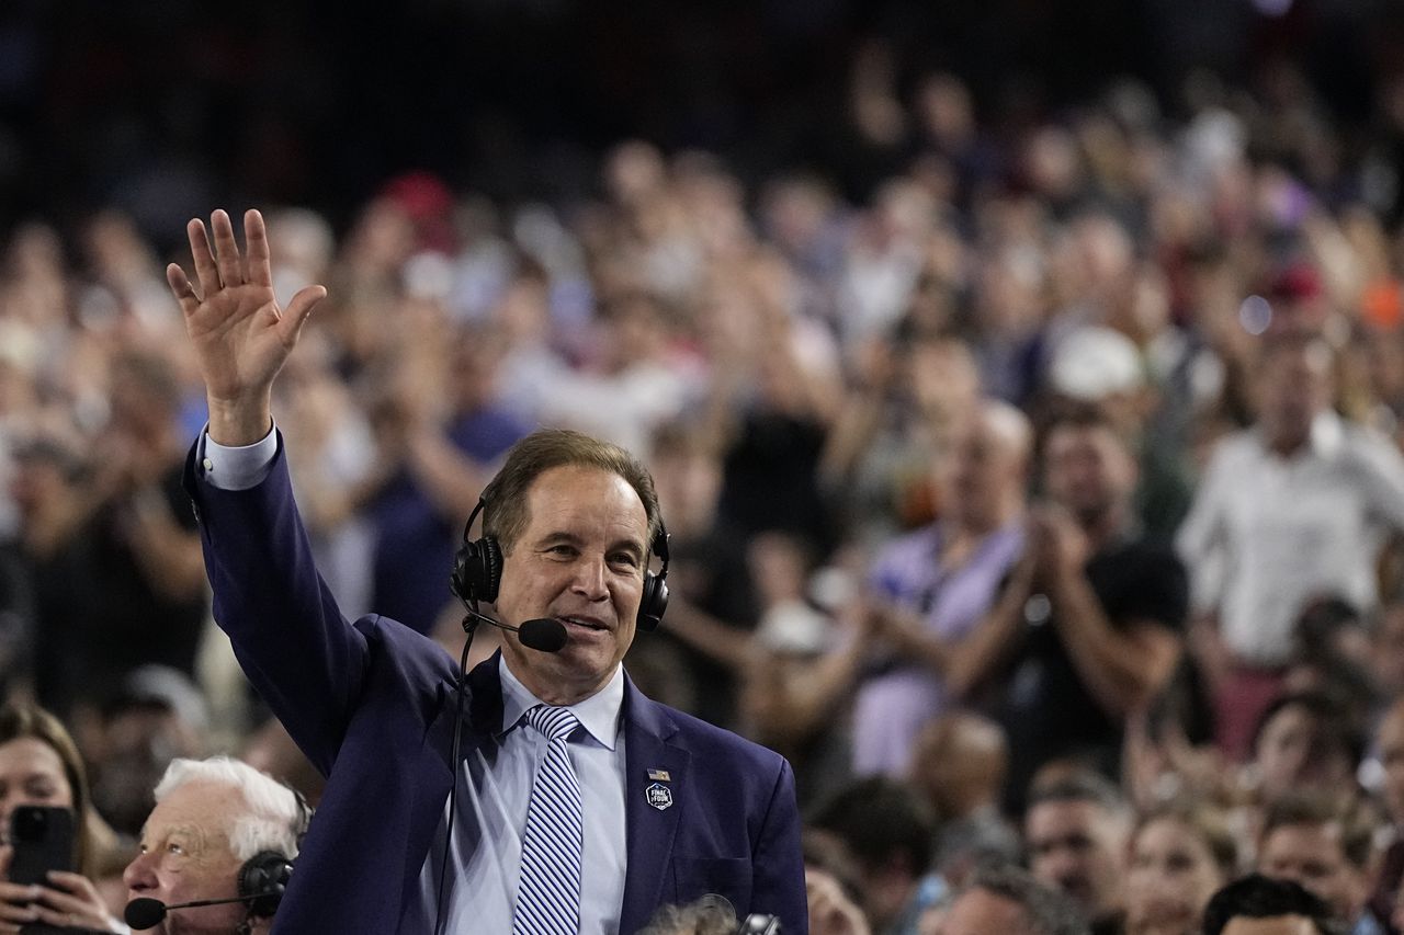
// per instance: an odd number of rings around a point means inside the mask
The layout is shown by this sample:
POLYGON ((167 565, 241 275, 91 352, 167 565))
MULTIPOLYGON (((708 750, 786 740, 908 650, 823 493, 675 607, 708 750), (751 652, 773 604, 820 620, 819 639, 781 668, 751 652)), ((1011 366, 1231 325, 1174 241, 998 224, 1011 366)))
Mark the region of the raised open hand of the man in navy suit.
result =
POLYGON ((327 291, 307 286, 286 309, 278 307, 263 215, 244 215, 244 256, 229 215, 216 211, 209 220, 213 247, 198 218, 185 227, 198 289, 174 263, 166 268, 166 281, 180 302, 205 379, 209 437, 222 445, 251 445, 272 425, 274 379, 327 291))

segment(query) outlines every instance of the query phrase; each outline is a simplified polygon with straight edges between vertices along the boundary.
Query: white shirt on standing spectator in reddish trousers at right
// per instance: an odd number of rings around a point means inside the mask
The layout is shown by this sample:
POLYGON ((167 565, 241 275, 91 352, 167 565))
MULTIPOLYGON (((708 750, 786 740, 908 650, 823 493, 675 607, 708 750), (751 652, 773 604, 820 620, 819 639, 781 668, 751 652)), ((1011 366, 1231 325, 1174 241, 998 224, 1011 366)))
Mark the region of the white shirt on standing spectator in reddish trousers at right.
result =
POLYGON ((1375 606, 1376 560, 1391 529, 1404 529, 1404 458, 1389 439, 1323 413, 1290 458, 1255 430, 1223 439, 1177 546, 1195 608, 1217 612, 1234 656, 1276 667, 1313 597, 1375 606))

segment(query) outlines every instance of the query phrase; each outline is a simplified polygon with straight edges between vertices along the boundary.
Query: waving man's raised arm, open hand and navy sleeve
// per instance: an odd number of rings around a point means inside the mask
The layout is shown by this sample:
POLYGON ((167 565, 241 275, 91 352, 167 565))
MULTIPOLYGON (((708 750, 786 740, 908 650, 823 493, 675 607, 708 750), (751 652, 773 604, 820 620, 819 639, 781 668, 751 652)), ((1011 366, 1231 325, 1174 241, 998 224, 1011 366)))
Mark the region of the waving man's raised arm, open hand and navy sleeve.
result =
MULTIPOLYGON (((211 442, 251 445, 272 428, 274 379, 326 291, 309 286, 288 309, 278 307, 258 212, 244 216, 247 256, 225 212, 215 212, 211 227, 213 250, 199 220, 188 227, 197 282, 177 265, 167 279, 205 379, 211 442)), ((326 774, 362 684, 366 642, 317 574, 286 459, 272 451, 268 473, 253 487, 199 480, 192 458, 187 490, 199 517, 215 621, 260 696, 326 774)))

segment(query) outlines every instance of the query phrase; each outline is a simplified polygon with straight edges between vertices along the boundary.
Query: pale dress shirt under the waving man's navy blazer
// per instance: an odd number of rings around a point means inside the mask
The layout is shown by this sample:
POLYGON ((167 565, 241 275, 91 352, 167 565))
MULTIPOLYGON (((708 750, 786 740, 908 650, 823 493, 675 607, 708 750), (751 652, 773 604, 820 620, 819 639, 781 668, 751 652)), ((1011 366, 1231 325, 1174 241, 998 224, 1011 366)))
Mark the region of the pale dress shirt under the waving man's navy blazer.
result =
MULTIPOLYGON (((205 479, 223 490, 247 490, 261 483, 278 452, 277 432, 241 448, 220 445, 206 435, 198 459, 205 479)), ((445 569, 445 581, 448 578, 445 569)), ((445 584, 446 591, 446 584, 445 584)), ((458 807, 449 873, 445 879, 445 932, 510 932, 521 872, 521 837, 536 767, 546 754, 546 738, 521 730, 522 719, 542 703, 498 658, 503 687, 503 723, 463 761, 458 781, 458 807), (475 844, 477 841, 480 844, 475 844)), ((580 932, 614 935, 619 931, 626 869, 625 849, 625 741, 621 723, 623 667, 595 695, 570 705, 580 729, 570 737, 570 762, 580 779, 584 813, 580 932)), ((373 821, 375 816, 366 816, 373 821)), ((448 802, 434 844, 420 872, 420 898, 407 900, 400 935, 434 931, 439 866, 448 828, 448 802)))

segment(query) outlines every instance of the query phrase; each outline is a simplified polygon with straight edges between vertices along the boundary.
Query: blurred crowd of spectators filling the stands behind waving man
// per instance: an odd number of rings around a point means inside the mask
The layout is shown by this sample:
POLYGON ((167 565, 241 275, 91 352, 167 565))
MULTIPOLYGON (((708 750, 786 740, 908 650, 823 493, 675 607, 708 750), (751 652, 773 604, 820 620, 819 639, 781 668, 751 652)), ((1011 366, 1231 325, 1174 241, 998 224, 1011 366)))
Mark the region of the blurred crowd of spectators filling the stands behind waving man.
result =
MULTIPOLYGON (((479 491, 580 428, 673 536, 626 667, 790 760, 816 932, 993 931, 977 891, 1198 932, 1254 869, 1321 931, 1398 931, 1404 81, 1380 100, 1351 146, 1290 69, 994 132, 859 55, 862 201, 629 140, 592 199, 260 205, 279 296, 330 292, 275 400, 322 574, 456 651, 479 491)), ((115 209, 0 253, 0 688, 67 724, 114 854, 174 757, 314 800, 211 622, 183 257, 115 209)))

